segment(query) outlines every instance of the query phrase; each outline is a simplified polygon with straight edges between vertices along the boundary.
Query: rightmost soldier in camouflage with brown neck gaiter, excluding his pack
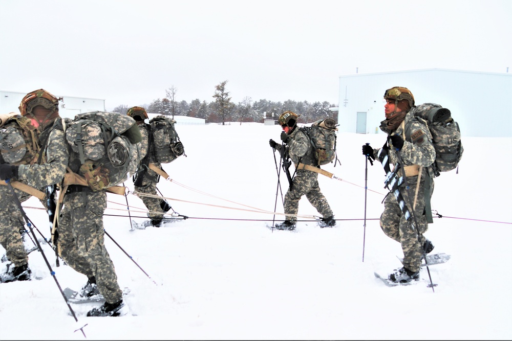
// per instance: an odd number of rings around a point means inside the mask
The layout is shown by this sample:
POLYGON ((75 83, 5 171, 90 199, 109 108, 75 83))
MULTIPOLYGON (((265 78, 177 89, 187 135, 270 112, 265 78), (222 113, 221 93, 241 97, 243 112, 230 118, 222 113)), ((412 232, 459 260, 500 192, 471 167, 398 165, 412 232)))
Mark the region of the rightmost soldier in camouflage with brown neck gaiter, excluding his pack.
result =
MULTIPOLYGON (((380 129, 388 134, 386 148, 390 164, 395 165, 399 161, 400 153, 403 162, 401 166, 405 169, 409 190, 402 184, 399 191, 409 211, 416 218, 419 236, 412 228, 413 218, 408 221, 404 217, 395 196, 390 194, 384 200, 380 227, 388 237, 400 242, 403 251, 403 267, 394 270, 389 279, 393 282, 407 283, 419 279, 423 254, 432 252, 434 248, 432 242, 423 234, 428 229, 427 214, 430 212, 425 210, 425 200, 430 200, 434 190, 434 182, 431 179, 434 178, 432 165, 436 151, 427 123, 410 112, 414 107, 414 97, 409 89, 392 87, 386 90, 384 99, 386 119, 381 122, 380 129), (407 136, 405 131, 410 131, 411 136, 407 136), (429 195, 424 195, 425 188, 427 193, 430 192, 429 195)), ((371 160, 378 160, 378 152, 379 149, 373 149, 370 145, 362 146, 362 153, 371 160)))

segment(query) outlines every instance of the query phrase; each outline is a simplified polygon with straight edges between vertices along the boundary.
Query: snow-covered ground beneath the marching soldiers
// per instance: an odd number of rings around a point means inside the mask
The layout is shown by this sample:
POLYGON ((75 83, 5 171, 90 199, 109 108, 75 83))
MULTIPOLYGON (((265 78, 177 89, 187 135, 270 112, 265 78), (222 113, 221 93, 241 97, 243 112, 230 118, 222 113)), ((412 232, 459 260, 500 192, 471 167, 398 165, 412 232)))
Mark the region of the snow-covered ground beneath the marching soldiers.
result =
MULTIPOLYGON (((274 215, 261 213, 274 212, 276 200, 283 212, 268 145, 280 141, 279 126, 177 128, 187 157, 164 165, 172 181, 161 179, 158 188, 188 219, 132 230, 126 199, 109 194, 105 231, 120 247, 107 236, 105 244, 120 286, 131 289, 131 315, 86 317, 91 305, 72 304, 75 322, 34 252, 30 267, 42 279, 0 286, 0 339, 84 339, 74 330, 86 324, 88 339, 512 339, 511 138, 464 137, 459 173, 436 179, 432 208, 443 217, 426 236, 434 253, 452 258, 430 267, 434 292, 425 269, 411 286, 389 288, 373 275, 389 274, 402 256, 379 228, 386 193, 379 164, 368 164, 364 227, 361 145, 381 146, 385 135, 339 133, 342 165, 323 168, 343 181, 318 178, 337 225, 321 229, 303 219, 287 232, 268 229, 274 215)), ((133 189, 131 179, 125 185, 133 189)), ((284 174, 281 186, 284 195, 284 174)), ((132 218, 143 221, 142 201, 127 199, 132 218)), ((48 236, 37 199, 24 206, 48 236)), ((305 198, 299 213, 318 216, 305 198)), ((56 267, 43 248, 62 289, 86 282, 62 261, 56 267)))

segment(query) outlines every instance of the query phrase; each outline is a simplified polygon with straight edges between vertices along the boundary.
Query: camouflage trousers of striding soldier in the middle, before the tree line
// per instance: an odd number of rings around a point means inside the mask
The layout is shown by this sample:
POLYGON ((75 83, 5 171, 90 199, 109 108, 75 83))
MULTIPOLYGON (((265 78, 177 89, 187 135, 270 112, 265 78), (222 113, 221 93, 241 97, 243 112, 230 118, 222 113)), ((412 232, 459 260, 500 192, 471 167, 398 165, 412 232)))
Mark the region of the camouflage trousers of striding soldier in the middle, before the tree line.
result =
POLYGON ((298 201, 303 195, 313 205, 313 207, 322 214, 322 217, 327 218, 332 216, 332 210, 325 198, 324 194, 318 187, 318 173, 299 170, 293 178, 292 189, 288 189, 285 195, 285 214, 286 220, 295 221, 297 217, 292 216, 298 213, 298 201))

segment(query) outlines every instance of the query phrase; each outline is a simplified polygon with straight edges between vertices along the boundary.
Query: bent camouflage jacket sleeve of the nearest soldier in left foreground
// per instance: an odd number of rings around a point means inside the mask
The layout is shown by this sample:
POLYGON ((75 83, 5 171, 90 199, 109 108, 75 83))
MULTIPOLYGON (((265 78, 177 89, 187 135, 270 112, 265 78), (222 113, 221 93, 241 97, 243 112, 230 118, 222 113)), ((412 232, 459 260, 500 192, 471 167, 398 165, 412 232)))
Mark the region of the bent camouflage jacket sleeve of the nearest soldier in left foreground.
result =
MULTIPOLYGON (((65 121, 68 125, 71 123, 69 119, 65 121)), ((60 183, 69 161, 70 148, 66 141, 62 120, 57 118, 48 132, 48 142, 46 147, 42 147, 45 148, 46 163, 18 167, 18 180, 35 188, 60 183)))

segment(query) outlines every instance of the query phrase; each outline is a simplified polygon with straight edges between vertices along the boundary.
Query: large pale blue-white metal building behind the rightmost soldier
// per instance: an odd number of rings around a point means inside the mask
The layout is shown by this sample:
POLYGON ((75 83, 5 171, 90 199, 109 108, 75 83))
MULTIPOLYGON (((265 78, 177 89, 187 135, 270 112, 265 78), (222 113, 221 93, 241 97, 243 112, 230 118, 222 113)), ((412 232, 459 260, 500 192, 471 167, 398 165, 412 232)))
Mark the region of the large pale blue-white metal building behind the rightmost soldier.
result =
POLYGON ((463 136, 512 137, 512 74, 444 69, 339 76, 339 131, 383 133, 383 96, 393 86, 411 90, 416 105, 450 109, 463 136))

